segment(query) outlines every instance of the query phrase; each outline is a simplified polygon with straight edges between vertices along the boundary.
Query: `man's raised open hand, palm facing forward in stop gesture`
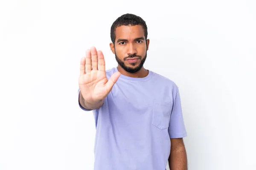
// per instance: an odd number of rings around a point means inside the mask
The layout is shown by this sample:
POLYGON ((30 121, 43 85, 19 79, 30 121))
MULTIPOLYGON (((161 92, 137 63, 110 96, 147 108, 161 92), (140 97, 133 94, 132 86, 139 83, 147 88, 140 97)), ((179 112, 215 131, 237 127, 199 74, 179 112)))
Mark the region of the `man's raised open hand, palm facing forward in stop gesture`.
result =
POLYGON ((105 59, 102 51, 91 47, 86 51, 86 57, 81 58, 79 88, 84 101, 94 105, 101 102, 110 93, 120 73, 114 73, 107 79, 105 59))

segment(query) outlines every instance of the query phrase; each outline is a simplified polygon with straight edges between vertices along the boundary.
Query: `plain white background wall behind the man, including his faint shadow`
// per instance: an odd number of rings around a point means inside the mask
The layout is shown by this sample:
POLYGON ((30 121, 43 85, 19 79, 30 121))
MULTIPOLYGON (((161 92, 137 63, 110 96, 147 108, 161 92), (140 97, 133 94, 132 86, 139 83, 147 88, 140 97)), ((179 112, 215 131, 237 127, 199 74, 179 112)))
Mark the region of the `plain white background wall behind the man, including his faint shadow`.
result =
POLYGON ((145 68, 180 88, 189 170, 256 167, 256 1, 0 1, 0 170, 93 170, 93 114, 78 106, 80 58, 116 60, 110 27, 142 17, 145 68))

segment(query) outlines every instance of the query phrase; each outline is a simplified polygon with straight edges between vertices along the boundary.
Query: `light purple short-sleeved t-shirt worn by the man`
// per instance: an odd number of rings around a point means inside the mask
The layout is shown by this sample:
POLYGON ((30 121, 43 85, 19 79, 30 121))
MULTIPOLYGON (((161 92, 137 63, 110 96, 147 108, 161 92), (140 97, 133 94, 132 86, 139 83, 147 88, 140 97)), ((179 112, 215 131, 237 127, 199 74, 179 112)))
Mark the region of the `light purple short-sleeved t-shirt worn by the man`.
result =
MULTIPOLYGON (((107 78, 116 71, 107 70, 107 78)), ((121 74, 93 114, 94 170, 165 170, 170 138, 187 136, 177 85, 152 71, 144 78, 121 74)))

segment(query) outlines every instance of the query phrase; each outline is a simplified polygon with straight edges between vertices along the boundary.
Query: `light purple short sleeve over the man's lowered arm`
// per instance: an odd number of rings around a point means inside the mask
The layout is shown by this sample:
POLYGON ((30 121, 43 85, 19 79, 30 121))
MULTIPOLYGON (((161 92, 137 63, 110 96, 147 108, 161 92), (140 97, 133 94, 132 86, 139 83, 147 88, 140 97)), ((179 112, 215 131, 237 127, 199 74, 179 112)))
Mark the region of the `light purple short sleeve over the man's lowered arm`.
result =
POLYGON ((183 138, 187 136, 183 120, 179 90, 177 90, 173 101, 168 133, 170 138, 183 138))

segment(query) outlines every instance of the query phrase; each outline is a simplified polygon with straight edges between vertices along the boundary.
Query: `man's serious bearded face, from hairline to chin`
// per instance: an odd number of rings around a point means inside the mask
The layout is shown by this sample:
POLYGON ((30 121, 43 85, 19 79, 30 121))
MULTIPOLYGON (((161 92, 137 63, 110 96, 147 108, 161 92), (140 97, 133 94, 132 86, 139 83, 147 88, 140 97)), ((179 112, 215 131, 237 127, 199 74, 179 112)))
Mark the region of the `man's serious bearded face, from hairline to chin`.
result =
POLYGON ((125 71, 129 73, 140 71, 147 57, 143 27, 140 25, 117 27, 114 50, 116 61, 125 71))

